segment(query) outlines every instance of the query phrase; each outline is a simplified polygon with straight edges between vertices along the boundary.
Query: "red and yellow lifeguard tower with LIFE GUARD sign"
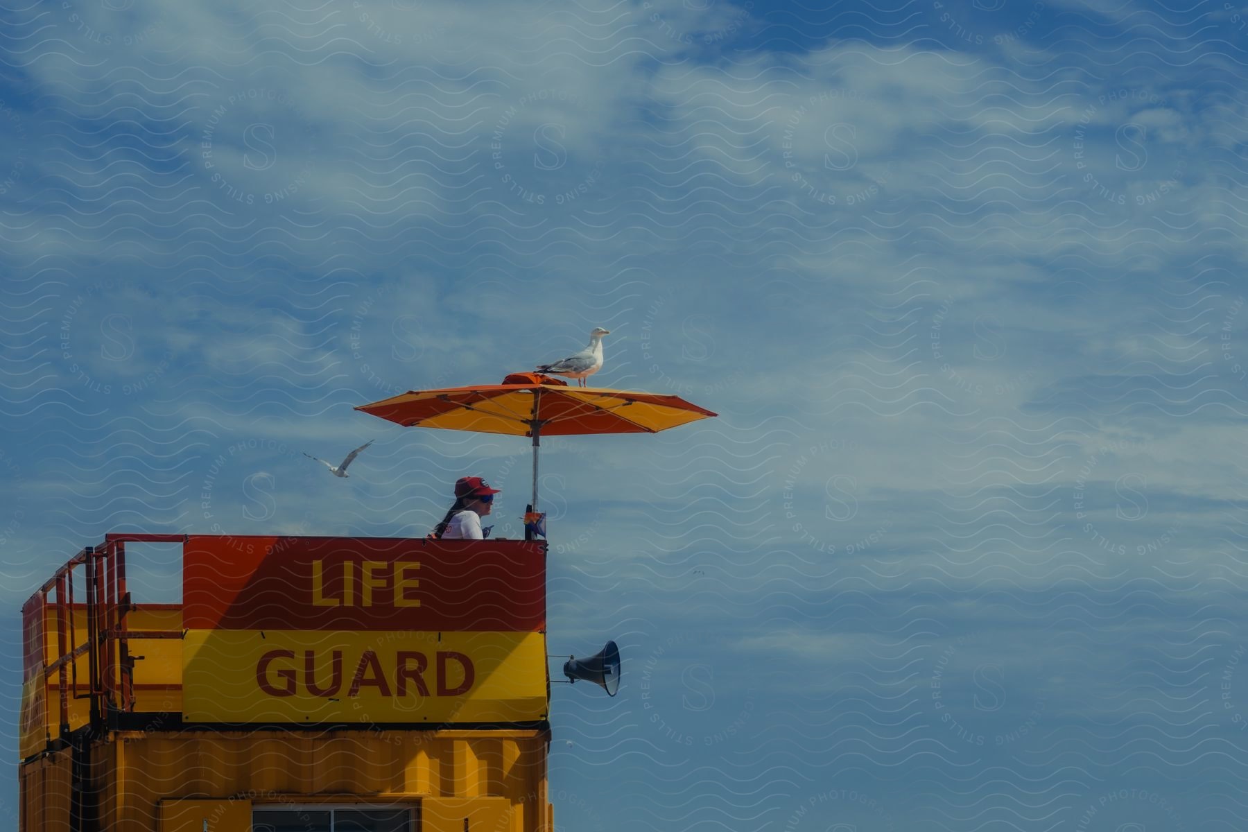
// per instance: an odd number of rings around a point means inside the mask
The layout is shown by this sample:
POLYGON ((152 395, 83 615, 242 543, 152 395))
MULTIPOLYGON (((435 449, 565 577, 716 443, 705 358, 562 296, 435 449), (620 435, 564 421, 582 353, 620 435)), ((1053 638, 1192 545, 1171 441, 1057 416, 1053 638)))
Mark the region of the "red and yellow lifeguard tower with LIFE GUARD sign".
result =
POLYGON ((552 831, 545 550, 106 535, 22 607, 22 832, 552 831))

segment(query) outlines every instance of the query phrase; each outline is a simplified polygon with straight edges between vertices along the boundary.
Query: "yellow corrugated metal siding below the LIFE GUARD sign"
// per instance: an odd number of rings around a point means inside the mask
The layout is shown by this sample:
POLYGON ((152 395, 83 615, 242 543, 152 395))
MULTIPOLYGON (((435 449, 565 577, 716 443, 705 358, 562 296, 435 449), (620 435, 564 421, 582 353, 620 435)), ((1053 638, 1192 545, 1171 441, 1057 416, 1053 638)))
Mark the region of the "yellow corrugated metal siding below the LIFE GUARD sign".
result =
MULTIPOLYGON (((230 797, 257 807, 505 798, 505 832, 542 832, 545 762, 547 735, 539 731, 122 732, 92 750, 104 780, 101 825, 116 832, 158 832, 162 800, 230 797)), ((69 828, 69 752, 22 766, 22 806, 30 797, 44 807, 30 815, 25 832, 69 828)))

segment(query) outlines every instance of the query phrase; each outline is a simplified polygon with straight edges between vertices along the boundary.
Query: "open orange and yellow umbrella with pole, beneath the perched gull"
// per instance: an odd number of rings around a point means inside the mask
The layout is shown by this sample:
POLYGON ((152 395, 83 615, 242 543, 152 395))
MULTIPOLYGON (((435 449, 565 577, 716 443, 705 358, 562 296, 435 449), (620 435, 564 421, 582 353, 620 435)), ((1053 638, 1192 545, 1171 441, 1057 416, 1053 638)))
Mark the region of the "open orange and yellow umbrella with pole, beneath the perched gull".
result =
POLYGON ((658 433, 718 415, 679 395, 568 387, 544 377, 517 384, 411 390, 356 409, 408 428, 532 437, 533 509, 538 501, 540 437, 658 433))

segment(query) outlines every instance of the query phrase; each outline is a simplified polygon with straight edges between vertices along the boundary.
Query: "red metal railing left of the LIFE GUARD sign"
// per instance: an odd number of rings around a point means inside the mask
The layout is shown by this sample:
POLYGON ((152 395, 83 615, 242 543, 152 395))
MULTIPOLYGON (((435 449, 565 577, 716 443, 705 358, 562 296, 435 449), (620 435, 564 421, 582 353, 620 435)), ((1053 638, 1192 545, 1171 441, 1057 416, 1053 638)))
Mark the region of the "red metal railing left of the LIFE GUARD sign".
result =
MULTIPOLYGON (((44 665, 44 684, 59 676, 60 725, 69 731, 70 697, 91 699, 91 722, 99 723, 110 711, 132 711, 135 707, 135 656, 130 641, 136 639, 181 639, 180 630, 130 630, 126 614, 136 609, 126 590, 127 543, 185 543, 180 534, 107 534, 104 544, 87 546, 70 558, 40 586, 24 609, 39 604, 37 637, 26 635, 26 650, 37 655, 27 664, 44 665), (82 568, 85 586, 86 641, 77 644, 74 624, 74 570, 82 568), (55 600, 49 595, 56 590, 55 600), (52 615, 46 615, 47 611, 52 615), (50 620, 51 619, 51 620, 50 620), (56 627, 56 656, 44 664, 47 636, 44 627, 56 627), (79 694, 77 659, 87 656, 87 694, 79 694)), ((80 609, 82 605, 79 605, 80 609)), ((30 626, 30 624, 27 624, 30 626)))

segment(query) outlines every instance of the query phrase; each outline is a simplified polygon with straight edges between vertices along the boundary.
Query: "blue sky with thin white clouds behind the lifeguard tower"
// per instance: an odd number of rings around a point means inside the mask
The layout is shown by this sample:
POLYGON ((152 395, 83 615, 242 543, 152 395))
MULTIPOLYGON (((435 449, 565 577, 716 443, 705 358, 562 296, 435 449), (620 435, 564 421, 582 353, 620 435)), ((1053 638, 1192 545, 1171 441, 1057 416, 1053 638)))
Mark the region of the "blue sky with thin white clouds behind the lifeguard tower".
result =
POLYGON ((59 563, 514 520, 352 407, 604 326, 720 417, 543 445, 559 828, 1243 828, 1248 7, 2 14, 0 813, 59 563))

